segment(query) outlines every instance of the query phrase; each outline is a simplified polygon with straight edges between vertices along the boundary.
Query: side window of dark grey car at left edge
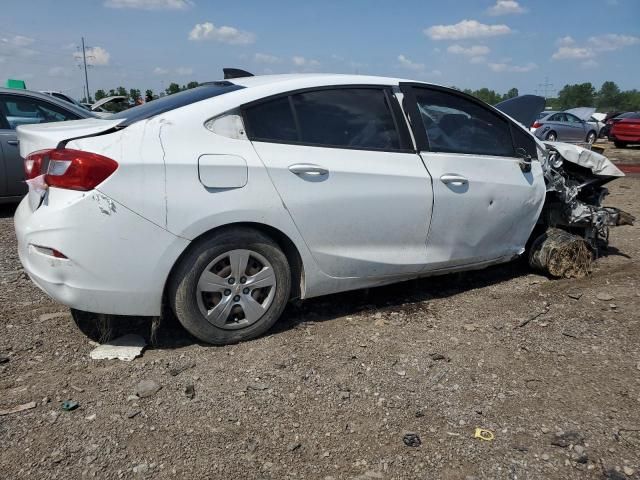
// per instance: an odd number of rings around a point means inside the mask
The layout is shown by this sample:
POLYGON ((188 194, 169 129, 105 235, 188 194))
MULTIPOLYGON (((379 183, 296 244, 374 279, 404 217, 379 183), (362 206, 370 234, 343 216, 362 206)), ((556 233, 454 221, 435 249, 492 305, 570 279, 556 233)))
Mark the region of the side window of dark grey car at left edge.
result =
POLYGON ((32 123, 62 122, 79 117, 51 103, 17 95, 0 96, 0 112, 10 129, 32 123))

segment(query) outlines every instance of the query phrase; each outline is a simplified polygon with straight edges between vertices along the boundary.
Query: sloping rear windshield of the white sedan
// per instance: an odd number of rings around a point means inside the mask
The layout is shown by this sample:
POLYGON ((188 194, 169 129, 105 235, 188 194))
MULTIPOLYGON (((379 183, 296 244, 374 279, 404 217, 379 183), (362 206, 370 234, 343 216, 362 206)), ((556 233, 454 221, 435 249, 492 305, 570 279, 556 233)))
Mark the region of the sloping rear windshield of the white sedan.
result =
POLYGON ((146 120, 147 118, 160 115, 161 113, 175 110, 176 108, 191 105, 192 103, 206 100, 208 98, 217 97, 224 93, 233 92, 244 88, 240 85, 234 85, 231 82, 212 82, 191 88, 183 92, 167 95, 166 97, 152 100, 151 102, 139 105, 137 107, 124 110, 109 116, 109 120, 124 119, 119 126, 126 127, 132 123, 146 120))

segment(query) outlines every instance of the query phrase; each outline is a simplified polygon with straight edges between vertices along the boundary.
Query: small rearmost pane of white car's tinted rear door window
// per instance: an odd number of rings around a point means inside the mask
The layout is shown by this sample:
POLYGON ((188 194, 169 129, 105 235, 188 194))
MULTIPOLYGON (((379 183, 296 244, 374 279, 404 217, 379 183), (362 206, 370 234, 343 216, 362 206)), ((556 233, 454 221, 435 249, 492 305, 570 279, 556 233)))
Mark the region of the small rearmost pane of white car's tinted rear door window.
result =
POLYGON ((245 110, 247 128, 252 140, 295 142, 298 130, 293 119, 289 97, 259 103, 245 110))

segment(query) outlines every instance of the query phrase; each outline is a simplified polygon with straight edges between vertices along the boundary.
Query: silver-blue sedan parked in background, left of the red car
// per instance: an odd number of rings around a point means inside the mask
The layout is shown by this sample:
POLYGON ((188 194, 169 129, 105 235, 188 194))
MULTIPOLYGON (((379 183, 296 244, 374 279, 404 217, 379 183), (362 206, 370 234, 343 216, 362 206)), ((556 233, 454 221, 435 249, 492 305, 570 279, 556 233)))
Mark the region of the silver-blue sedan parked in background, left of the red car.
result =
POLYGON ((571 112, 542 112, 531 126, 531 132, 540 140, 550 142, 593 143, 598 138, 596 126, 571 112))

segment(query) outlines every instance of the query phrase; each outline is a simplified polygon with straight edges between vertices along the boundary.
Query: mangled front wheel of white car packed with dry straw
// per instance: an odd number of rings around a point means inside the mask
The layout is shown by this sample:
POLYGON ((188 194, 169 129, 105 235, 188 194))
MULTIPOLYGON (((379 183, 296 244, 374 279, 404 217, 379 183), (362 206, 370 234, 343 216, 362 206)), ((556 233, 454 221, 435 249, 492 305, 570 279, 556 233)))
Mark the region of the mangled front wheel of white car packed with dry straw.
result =
POLYGON ((529 265, 558 278, 586 276, 592 259, 585 239, 559 228, 547 229, 529 250, 529 265))

